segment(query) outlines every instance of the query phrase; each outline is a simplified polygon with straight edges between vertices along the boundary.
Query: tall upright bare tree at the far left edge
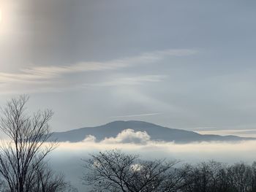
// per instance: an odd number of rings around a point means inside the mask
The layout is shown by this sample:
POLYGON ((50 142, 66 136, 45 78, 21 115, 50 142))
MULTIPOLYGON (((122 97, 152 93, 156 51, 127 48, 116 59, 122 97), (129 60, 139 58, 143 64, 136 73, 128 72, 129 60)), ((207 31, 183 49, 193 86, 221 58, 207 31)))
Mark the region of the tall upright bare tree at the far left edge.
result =
POLYGON ((11 192, 30 192, 39 176, 42 183, 52 178, 51 172, 42 170, 45 157, 56 147, 56 142, 48 142, 53 112, 28 115, 28 100, 29 96, 19 96, 1 108, 0 129, 6 137, 0 146, 0 174, 11 192))

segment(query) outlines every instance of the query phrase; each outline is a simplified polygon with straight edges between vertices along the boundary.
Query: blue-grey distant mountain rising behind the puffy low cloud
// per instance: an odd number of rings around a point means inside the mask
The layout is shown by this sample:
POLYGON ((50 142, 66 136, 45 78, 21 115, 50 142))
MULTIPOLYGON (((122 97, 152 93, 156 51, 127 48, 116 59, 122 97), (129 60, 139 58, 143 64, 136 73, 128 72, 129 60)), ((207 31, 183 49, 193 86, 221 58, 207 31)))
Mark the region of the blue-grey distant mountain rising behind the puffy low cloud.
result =
POLYGON ((152 140, 165 142, 211 142, 211 141, 241 141, 255 138, 236 137, 236 136, 219 136, 213 134, 197 134, 193 131, 186 131, 176 128, 167 128, 157 126, 153 123, 143 121, 114 121, 102 126, 78 128, 71 131, 55 132, 53 139, 58 139, 59 142, 80 142, 88 135, 93 135, 97 141, 105 139, 106 137, 116 137, 121 131, 131 128, 135 131, 146 131, 152 140))

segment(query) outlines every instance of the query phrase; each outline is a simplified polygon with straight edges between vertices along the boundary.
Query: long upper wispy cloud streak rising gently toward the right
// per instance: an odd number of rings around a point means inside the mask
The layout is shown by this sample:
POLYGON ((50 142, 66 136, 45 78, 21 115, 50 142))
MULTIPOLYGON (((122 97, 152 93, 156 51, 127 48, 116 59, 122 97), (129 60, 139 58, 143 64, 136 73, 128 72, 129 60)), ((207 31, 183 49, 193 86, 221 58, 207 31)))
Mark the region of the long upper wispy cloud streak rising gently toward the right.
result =
POLYGON ((26 69, 20 69, 18 73, 0 72, 0 82, 45 80, 59 77, 62 74, 118 69, 131 66, 132 64, 146 64, 159 61, 166 56, 184 56, 195 53, 197 53, 197 50, 163 50, 105 62, 80 62, 64 66, 31 66, 26 69))

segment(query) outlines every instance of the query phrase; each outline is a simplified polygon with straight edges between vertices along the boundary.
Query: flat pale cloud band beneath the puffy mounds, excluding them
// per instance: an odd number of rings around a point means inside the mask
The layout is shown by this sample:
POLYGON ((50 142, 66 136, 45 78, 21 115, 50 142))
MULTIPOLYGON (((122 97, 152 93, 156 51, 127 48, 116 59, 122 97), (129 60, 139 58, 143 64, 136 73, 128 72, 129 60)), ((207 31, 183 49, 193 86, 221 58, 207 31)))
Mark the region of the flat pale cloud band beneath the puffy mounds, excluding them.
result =
POLYGON ((178 159, 183 162, 196 163, 199 161, 222 161, 235 163, 245 161, 251 163, 256 160, 255 141, 244 142, 200 142, 190 144, 175 144, 173 142, 152 142, 141 144, 116 143, 116 142, 86 142, 68 143, 62 142, 54 155, 65 155, 67 158, 77 156, 78 159, 89 153, 120 149, 126 153, 141 155, 141 158, 168 158, 178 159), (118 144, 118 145, 117 145, 118 144))

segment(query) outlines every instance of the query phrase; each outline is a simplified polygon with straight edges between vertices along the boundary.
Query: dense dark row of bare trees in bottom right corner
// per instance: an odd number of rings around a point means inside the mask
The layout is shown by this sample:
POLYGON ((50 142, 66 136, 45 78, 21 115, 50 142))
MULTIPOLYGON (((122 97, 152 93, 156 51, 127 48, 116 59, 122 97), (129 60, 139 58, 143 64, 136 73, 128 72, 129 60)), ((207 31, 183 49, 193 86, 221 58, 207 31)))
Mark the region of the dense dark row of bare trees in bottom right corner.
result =
MULTIPOLYGON (((188 165, 190 166, 190 165, 188 165)), ((256 191, 256 163, 227 166, 216 161, 208 161, 190 166, 185 175, 184 192, 253 192, 256 191)))

